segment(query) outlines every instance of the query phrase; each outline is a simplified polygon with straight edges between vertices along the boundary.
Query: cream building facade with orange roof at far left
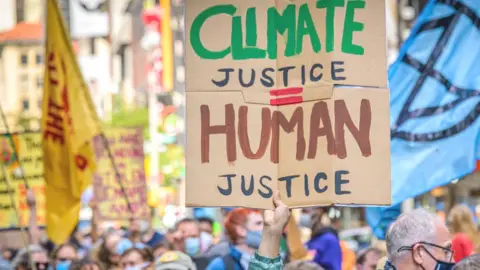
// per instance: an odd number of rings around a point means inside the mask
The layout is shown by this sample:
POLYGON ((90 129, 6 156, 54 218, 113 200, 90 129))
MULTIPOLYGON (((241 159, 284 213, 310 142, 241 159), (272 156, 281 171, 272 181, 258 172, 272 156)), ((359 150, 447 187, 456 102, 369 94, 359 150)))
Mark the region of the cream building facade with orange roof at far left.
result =
MULTIPOLYGON (((0 105, 10 131, 40 127, 42 40, 40 23, 21 22, 0 33, 0 105)), ((5 132, 5 123, 0 126, 5 132)))

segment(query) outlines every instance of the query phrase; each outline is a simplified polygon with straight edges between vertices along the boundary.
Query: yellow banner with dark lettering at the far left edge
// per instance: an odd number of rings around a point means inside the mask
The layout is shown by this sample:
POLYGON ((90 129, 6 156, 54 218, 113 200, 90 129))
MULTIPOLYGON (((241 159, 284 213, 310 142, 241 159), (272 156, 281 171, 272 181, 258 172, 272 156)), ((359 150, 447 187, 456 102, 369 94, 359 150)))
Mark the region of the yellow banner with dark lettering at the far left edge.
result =
MULTIPOLYGON (((0 134, 0 165, 5 166, 7 179, 0 173, 0 229, 18 228, 28 225, 29 210, 26 204, 27 189, 23 182, 22 172, 37 199, 37 224, 45 225, 45 184, 43 179, 43 152, 41 133, 0 134), (12 141, 18 151, 15 155, 12 141), (20 161, 20 162, 19 162, 20 161), (22 165, 20 169, 19 165, 22 165), (19 218, 12 207, 9 189, 19 210, 19 218)), ((0 171, 1 172, 1 171, 0 171)))

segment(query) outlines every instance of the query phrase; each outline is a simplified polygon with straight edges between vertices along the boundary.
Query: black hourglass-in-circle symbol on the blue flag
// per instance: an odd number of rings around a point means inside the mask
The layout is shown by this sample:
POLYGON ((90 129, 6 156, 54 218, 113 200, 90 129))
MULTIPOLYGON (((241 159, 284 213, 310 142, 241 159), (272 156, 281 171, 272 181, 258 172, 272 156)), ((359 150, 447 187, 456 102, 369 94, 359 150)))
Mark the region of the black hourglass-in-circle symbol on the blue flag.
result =
MULTIPOLYGON (((439 4, 448 5, 456 10, 450 16, 437 18, 428 22, 425 22, 421 25, 420 29, 418 30, 418 34, 432 31, 436 29, 442 29, 440 37, 437 41, 437 44, 433 47, 433 50, 430 54, 430 57, 427 59, 426 63, 423 64, 417 59, 412 58, 408 54, 405 54, 401 59, 402 62, 408 64, 410 67, 416 69, 420 76, 417 79, 415 86, 413 87, 405 105, 403 106, 402 110, 400 111, 399 117, 395 122, 395 125, 392 127, 391 130, 391 137, 402 139, 405 141, 415 141, 415 142, 431 142, 436 141, 444 138, 448 138, 450 136, 456 135, 463 130, 467 129, 470 125, 472 125, 477 117, 480 114, 480 102, 478 102, 471 111, 463 118, 460 119, 456 124, 450 126, 446 129, 431 132, 431 133, 414 133, 414 132, 407 132, 407 131, 400 131, 400 127, 411 119, 421 118, 421 117, 431 117, 435 115, 440 115, 442 113, 446 113, 451 109, 454 109, 458 105, 461 105, 465 101, 469 100, 470 98, 480 96, 480 90, 477 89, 464 89, 454 85, 451 81, 449 81, 441 72, 435 70, 435 64, 437 60, 440 58, 443 49, 446 47, 448 41, 452 37, 452 33, 455 29, 455 26, 459 22, 460 18, 468 18, 472 23, 473 27, 476 27, 477 30, 480 32, 480 17, 477 16, 474 10, 470 9, 469 7, 465 6, 460 1, 456 0, 438 0, 439 4), (448 93, 453 94, 456 96, 456 99, 448 102, 443 105, 439 106, 432 106, 420 109, 411 110, 411 105, 413 101, 417 98, 417 95, 422 89, 422 86, 427 81, 428 78, 435 79, 440 84, 442 84, 448 93)), ((476 44, 475 46, 477 46, 476 44)))

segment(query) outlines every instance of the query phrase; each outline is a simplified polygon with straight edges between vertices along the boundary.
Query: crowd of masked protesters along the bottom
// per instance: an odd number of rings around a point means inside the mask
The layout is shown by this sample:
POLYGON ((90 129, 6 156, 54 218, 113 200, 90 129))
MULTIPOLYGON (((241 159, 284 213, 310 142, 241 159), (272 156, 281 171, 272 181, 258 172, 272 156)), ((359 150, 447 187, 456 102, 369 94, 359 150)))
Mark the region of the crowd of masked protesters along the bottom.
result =
MULTIPOLYGON (((32 193, 27 204, 34 213, 32 193)), ((447 224, 424 209, 407 212, 390 225, 384 249, 370 246, 355 253, 339 239, 339 222, 329 217, 329 208, 303 209, 293 219, 278 194, 274 204, 263 213, 229 211, 220 237, 209 218, 182 219, 165 233, 144 220, 130 220, 125 230, 100 230, 92 220, 80 222, 70 240, 56 246, 33 218, 28 249, 1 243, 0 270, 480 269, 480 236, 465 206, 455 206, 447 224), (305 228, 311 236, 302 243, 299 232, 305 228)))

